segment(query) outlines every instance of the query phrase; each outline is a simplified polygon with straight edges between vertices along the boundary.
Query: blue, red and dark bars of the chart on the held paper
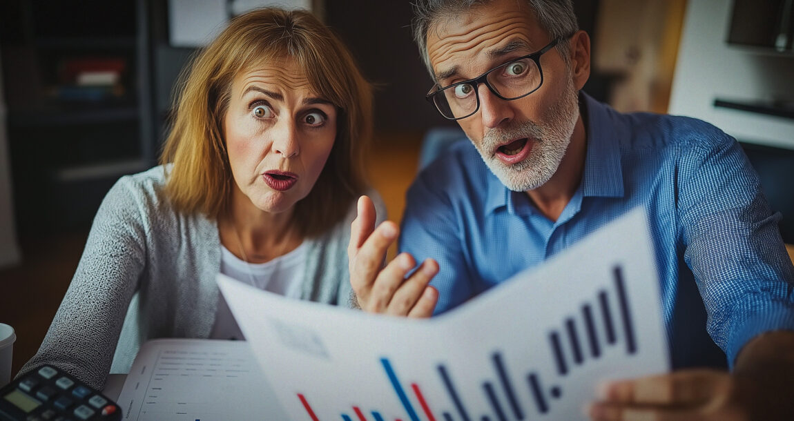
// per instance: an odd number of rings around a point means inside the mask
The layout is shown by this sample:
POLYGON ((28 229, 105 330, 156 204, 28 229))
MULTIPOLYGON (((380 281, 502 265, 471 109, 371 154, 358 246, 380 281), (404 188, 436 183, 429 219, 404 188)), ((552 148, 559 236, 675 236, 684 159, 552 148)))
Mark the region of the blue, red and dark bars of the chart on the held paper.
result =
MULTIPOLYGON (((395 367, 388 357, 380 358, 385 378, 391 386, 393 398, 399 401, 405 411, 405 419, 419 421, 427 419, 435 421, 507 421, 508 419, 534 419, 530 414, 545 415, 552 410, 555 401, 564 395, 563 386, 556 380, 564 379, 578 367, 589 361, 598 361, 606 353, 622 353, 630 356, 638 352, 635 340, 634 323, 623 281, 622 267, 616 265, 612 271, 611 289, 601 289, 592 297, 592 302, 584 303, 580 311, 565 317, 556 329, 550 329, 547 336, 547 351, 554 361, 556 377, 549 379, 549 384, 541 380, 541 374, 532 369, 520 372, 518 377, 526 379, 523 384, 514 384, 511 372, 503 353, 495 350, 486 364, 491 365, 493 377, 482 380, 479 384, 467 384, 468 388, 481 388, 488 407, 469 408, 461 400, 457 392, 461 384, 453 380, 453 370, 445 364, 438 364, 437 376, 443 388, 435 396, 446 395, 433 408, 427 403, 422 393, 422 386, 417 383, 405 384, 399 380, 395 367), (592 309, 599 311, 594 314, 592 309), (597 326, 600 325, 600 328, 597 326), (599 336, 598 332, 603 332, 599 336), (585 346, 586 344, 586 346, 585 346), (567 350, 565 352, 564 350, 567 350), (570 357, 568 357, 570 356, 570 357), (413 396, 410 396, 413 394, 413 396), (418 402, 414 407, 413 402, 418 402)), ((308 419, 318 421, 318 416, 302 393, 297 394, 303 407, 306 408, 308 419)), ((343 419, 345 421, 385 421, 381 412, 375 408, 362 410, 361 406, 353 406, 336 417, 326 416, 323 419, 343 419)), ((395 418, 395 421, 402 421, 395 418)))

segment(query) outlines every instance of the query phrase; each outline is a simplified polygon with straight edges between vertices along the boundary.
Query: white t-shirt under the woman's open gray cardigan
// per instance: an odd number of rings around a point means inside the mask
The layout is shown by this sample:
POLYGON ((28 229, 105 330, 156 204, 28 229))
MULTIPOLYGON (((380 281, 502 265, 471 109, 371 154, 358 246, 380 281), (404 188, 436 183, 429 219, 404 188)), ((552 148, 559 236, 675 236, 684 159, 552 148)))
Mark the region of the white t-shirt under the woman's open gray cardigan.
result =
MULTIPOLYGON (((287 298, 300 298, 301 274, 305 265, 306 242, 290 253, 265 263, 242 261, 221 245, 222 274, 287 298)), ((245 339, 223 294, 218 294, 218 312, 215 314, 210 339, 245 339)))

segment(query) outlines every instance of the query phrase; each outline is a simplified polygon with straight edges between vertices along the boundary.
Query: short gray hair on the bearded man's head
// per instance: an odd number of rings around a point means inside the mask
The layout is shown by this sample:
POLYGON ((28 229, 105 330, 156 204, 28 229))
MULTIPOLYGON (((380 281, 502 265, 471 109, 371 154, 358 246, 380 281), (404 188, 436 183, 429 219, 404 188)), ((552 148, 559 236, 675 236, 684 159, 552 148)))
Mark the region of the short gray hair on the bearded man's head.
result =
MULTIPOLYGON (((572 0, 515 1, 526 2, 532 7, 535 17, 538 18, 538 23, 551 39, 570 37, 579 30, 576 14, 573 13, 572 0)), ((430 71, 431 78, 435 80, 433 67, 430 65, 430 56, 427 55, 427 31, 430 30, 430 26, 443 17, 452 17, 490 2, 491 0, 416 0, 414 2, 414 19, 411 22, 414 29, 414 41, 416 41, 427 71, 430 71)), ((570 64, 568 41, 564 39, 556 47, 566 64, 570 64)))

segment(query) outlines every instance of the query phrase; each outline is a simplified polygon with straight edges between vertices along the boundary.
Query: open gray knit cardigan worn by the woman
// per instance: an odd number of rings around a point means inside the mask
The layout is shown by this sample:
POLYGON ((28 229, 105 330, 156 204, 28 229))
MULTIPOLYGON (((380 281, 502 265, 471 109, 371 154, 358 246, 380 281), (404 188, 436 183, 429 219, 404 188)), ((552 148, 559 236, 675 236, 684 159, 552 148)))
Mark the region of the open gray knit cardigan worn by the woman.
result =
MULTIPOLYGON (((94 218, 83 257, 44 342, 21 369, 52 364, 94 388, 128 373, 152 338, 208 338, 218 307, 218 224, 160 196, 164 168, 121 177, 94 218), (111 356, 113 356, 111 358, 111 356)), ((385 211, 374 192, 379 219, 385 211)), ((350 306, 347 217, 307 239, 301 299, 350 306)))

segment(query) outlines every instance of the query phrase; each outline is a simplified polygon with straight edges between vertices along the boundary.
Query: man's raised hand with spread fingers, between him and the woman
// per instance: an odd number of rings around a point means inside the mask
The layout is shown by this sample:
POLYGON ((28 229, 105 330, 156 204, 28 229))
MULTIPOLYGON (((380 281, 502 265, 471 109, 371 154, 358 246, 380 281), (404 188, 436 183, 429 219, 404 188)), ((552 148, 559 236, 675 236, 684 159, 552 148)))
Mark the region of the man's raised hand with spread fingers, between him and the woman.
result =
POLYGON ((386 221, 376 228, 375 205, 367 196, 358 200, 358 215, 350 229, 348 259, 350 284, 362 310, 408 317, 430 317, 438 292, 428 285, 438 272, 432 259, 416 267, 414 257, 400 253, 384 266, 386 251, 399 235, 399 227, 386 221))

